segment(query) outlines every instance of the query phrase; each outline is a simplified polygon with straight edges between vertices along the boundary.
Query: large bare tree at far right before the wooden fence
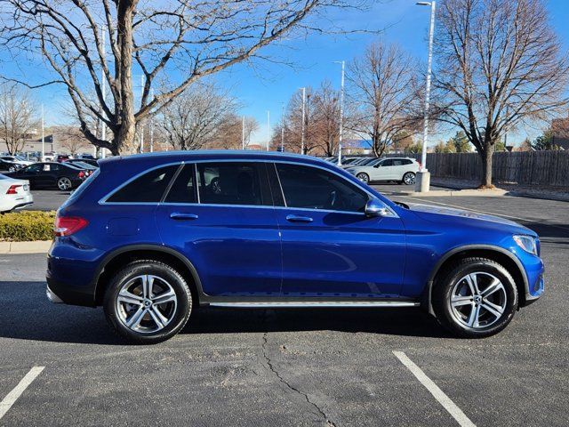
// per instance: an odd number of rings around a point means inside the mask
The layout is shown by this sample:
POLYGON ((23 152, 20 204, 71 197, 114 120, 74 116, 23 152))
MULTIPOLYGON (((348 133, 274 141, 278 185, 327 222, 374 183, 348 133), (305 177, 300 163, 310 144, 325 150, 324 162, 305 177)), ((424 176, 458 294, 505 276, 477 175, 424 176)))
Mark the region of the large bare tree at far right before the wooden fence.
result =
POLYGON ((568 61, 541 0, 442 0, 437 25, 438 118, 466 133, 491 187, 501 136, 566 103, 568 61))

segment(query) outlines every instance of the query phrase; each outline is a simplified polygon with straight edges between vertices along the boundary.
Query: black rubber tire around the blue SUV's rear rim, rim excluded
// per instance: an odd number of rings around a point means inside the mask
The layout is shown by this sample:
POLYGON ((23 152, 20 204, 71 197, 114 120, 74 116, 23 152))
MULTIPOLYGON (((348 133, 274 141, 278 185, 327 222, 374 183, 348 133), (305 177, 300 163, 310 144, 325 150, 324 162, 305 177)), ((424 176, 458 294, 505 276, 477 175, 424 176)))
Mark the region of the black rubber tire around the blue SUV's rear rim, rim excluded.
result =
MULTIPOLYGON (((142 307, 142 306, 140 306, 142 307)), ((105 291, 103 309, 109 326, 120 337, 133 344, 155 344, 172 338, 188 323, 188 318, 192 310, 192 295, 186 280, 177 270, 172 269, 163 262, 152 260, 142 260, 127 264, 123 270, 119 270, 105 291), (172 309, 170 321, 162 329, 156 332, 136 332, 124 324, 119 308, 117 307, 117 297, 121 288, 132 278, 142 275, 152 275, 166 281, 176 296, 175 308, 172 309)), ((136 310, 133 308, 132 310, 136 310)), ((147 314, 144 315, 145 318, 147 314)), ((150 320, 148 314, 148 321, 150 320)))

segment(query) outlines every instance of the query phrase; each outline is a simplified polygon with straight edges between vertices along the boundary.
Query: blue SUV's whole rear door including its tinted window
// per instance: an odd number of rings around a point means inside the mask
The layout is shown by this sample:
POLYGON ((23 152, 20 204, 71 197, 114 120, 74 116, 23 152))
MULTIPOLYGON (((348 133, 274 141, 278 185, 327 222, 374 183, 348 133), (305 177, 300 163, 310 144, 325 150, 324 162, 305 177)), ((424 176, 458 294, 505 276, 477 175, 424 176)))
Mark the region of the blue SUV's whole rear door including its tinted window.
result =
POLYGON ((164 245, 194 264, 205 294, 280 294, 281 244, 264 163, 183 165, 156 222, 164 245))

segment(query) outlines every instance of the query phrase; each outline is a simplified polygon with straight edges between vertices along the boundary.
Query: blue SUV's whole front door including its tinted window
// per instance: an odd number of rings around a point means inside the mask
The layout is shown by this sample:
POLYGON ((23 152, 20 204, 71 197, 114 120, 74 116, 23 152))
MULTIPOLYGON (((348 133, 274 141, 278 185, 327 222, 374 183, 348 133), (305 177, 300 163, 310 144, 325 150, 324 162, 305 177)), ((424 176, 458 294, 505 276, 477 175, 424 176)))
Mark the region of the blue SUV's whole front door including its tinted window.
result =
POLYGON ((397 297, 405 267, 397 215, 366 217, 370 195, 331 171, 277 163, 276 172, 284 194, 284 206, 276 209, 283 296, 397 297))

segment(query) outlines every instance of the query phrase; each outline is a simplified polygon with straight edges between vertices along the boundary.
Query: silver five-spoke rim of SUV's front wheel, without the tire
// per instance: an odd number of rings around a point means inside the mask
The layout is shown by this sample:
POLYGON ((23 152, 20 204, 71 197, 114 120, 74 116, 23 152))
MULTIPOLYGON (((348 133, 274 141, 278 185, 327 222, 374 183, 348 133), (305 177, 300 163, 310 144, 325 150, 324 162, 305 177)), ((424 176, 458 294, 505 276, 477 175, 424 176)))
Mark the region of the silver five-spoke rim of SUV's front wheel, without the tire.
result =
POLYGON ((504 314, 508 296, 501 280, 493 274, 478 271, 456 282, 451 293, 454 320, 470 329, 492 326, 504 314))

